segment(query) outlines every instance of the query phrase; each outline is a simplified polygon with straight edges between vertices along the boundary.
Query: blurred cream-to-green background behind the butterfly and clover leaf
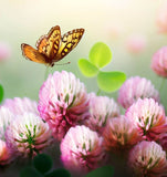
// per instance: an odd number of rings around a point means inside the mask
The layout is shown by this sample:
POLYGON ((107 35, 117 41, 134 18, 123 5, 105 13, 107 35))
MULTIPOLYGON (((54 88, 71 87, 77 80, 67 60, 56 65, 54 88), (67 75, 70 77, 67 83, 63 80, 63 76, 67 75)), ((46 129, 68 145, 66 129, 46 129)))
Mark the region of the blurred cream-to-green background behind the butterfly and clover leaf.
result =
MULTIPOLYGON (((113 61, 104 71, 123 71, 127 77, 145 76, 159 88, 161 79, 150 69, 153 54, 167 44, 167 35, 158 33, 156 18, 163 0, 0 0, 0 42, 9 43, 11 56, 0 63, 0 82, 4 86, 4 97, 36 100, 44 81, 45 65, 25 60, 21 43, 35 46, 36 40, 46 34, 51 27, 60 25, 62 33, 84 28, 85 33, 79 45, 50 72, 71 71, 85 83, 88 92, 96 92, 95 79, 84 77, 77 60, 88 58, 92 45, 105 42, 112 50, 113 61), (116 30, 114 30, 116 29, 116 30), (132 34, 146 38, 146 49, 132 54, 126 41, 132 34)), ((160 92, 165 101, 166 86, 160 92)), ((116 97, 117 93, 108 94, 116 97)))

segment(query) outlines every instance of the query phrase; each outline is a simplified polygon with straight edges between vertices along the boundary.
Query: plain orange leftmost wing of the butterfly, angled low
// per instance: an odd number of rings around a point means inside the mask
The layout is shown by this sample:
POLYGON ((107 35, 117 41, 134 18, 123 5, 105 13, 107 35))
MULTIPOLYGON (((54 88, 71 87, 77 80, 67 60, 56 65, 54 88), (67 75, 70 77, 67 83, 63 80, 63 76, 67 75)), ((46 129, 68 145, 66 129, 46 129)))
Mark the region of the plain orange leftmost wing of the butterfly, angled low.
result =
POLYGON ((48 64, 48 59, 38 50, 33 49, 32 46, 25 43, 22 43, 21 49, 22 49, 22 54, 25 59, 36 63, 48 64))

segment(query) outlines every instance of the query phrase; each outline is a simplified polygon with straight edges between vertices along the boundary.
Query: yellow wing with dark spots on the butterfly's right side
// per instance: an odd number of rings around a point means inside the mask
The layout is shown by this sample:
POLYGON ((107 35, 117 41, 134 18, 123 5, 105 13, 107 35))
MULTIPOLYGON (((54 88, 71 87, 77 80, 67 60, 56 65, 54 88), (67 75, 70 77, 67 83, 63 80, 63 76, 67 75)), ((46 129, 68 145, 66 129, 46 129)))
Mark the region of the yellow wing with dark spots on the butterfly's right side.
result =
POLYGON ((54 62, 60 61, 67 53, 70 53, 77 45, 83 33, 84 33, 84 29, 75 29, 75 30, 66 32, 61 38, 60 48, 59 48, 59 51, 54 58, 54 62))

